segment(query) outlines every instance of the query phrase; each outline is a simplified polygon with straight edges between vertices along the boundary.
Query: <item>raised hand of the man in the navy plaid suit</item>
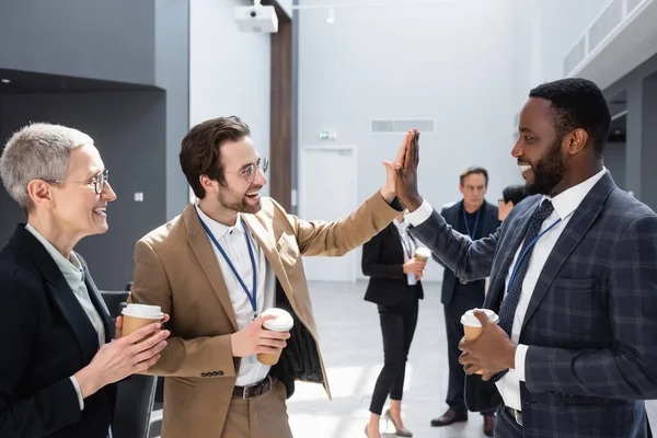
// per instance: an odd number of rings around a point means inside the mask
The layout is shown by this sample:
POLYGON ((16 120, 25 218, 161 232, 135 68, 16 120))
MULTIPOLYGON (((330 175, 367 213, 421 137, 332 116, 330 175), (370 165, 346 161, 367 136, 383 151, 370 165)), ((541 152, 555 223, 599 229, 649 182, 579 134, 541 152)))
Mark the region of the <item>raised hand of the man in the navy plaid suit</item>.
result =
POLYGON ((422 205, 422 196, 417 192, 417 164, 419 163, 419 131, 406 132, 406 138, 394 161, 395 193, 410 211, 422 205), (408 138, 410 136, 410 138, 408 138))

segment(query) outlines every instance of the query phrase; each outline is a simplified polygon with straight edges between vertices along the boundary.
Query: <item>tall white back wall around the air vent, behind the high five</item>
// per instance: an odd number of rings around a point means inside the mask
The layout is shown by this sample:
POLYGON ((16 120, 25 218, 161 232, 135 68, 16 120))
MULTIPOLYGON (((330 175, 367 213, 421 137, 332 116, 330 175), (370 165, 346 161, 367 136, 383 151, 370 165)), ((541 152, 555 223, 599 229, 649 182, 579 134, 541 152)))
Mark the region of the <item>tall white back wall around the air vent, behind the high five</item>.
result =
MULTIPOLYGON (((300 3, 313 2, 320 3, 300 3)), ((487 199, 495 203, 504 186, 521 181, 508 129, 515 114, 511 8, 512 0, 336 8, 332 25, 325 10, 301 10, 300 149, 320 143, 325 129, 338 132, 334 143, 357 145, 364 200, 382 184, 381 160, 393 159, 402 139, 372 135, 370 120, 435 118, 437 132, 422 137, 423 196, 435 207, 459 199, 459 173, 480 164, 491 171, 487 199)), ((359 255, 357 263, 360 276, 359 255)), ((427 279, 440 278, 433 265, 427 279)))

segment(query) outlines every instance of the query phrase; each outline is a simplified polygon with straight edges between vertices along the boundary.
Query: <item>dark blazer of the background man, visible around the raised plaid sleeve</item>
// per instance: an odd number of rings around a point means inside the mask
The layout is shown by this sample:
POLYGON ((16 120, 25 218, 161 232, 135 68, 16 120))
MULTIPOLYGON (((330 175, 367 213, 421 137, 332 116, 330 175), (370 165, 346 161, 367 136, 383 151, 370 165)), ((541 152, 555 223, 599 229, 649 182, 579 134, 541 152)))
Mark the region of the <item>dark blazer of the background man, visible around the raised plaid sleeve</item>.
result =
MULTIPOLYGON (((453 205, 448 205, 448 206, 442 207, 442 210, 440 211, 440 215, 442 215, 442 217, 445 218, 445 221, 447 223, 449 223, 450 226, 452 226, 454 229, 459 228, 459 220, 461 219, 460 215, 462 215, 461 214, 462 205, 463 205, 463 201, 456 203, 453 205)), ((492 204, 488 204, 487 201, 484 201, 484 206, 482 206, 482 208, 484 208, 484 210, 482 211, 482 217, 481 217, 482 231, 481 231, 481 233, 477 233, 477 235, 481 235, 482 238, 487 238, 488 235, 491 235, 495 231, 497 231, 497 229, 499 228, 502 222, 498 219, 497 207, 495 207, 492 204)), ((442 266, 445 266, 442 264, 442 262, 440 261, 440 258, 438 258, 435 254, 434 254, 434 260, 436 262, 440 263, 442 266)), ((443 304, 449 304, 451 302, 451 300, 454 296, 454 289, 457 288, 458 281, 459 281, 459 279, 454 275, 454 272, 451 270, 450 268, 446 268, 442 272, 442 295, 441 295, 440 301, 443 304)), ((475 280, 472 283, 479 284, 479 286, 481 286, 482 293, 484 292, 485 280, 482 279, 482 280, 475 280)), ((484 296, 482 295, 482 302, 483 302, 483 298, 484 298, 484 296)))

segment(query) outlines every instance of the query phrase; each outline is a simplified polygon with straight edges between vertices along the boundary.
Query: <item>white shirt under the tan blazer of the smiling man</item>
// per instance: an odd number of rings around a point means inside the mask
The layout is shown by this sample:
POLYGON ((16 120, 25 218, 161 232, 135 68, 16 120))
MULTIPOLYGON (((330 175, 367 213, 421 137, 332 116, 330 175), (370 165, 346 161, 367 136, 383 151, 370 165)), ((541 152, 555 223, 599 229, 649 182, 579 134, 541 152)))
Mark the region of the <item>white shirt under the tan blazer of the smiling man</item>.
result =
MULTIPOLYGON (((216 220, 210 219, 203 210, 196 205, 198 216, 210 229, 215 239, 219 242, 226 255, 230 258, 234 268, 240 274, 242 281, 249 289, 249 293, 253 291, 253 269, 251 264, 251 256, 249 255, 249 246, 246 245, 247 235, 251 247, 253 250, 253 256, 255 258, 255 266, 257 273, 257 290, 256 290, 256 313, 260 315, 267 309, 274 307, 276 296, 276 274, 265 257, 265 252, 261 250, 256 240, 249 232, 244 234, 244 227, 242 226, 242 218, 238 215, 238 221, 234 227, 227 227, 216 220)), ((249 229, 246 229, 249 230, 249 229)), ((226 283, 226 288, 230 295, 230 301, 232 302, 233 310, 235 312, 235 320, 238 322, 238 328, 242 330, 253 321, 253 308, 251 301, 246 296, 246 292, 240 285, 240 281, 235 278, 232 269, 223 258, 223 255, 219 252, 211 239, 208 240, 215 256, 219 262, 219 268, 226 283)), ((240 370, 238 371, 238 380, 235 381, 237 387, 245 387, 252 383, 256 383, 269 373, 270 367, 263 365, 257 361, 255 355, 243 357, 240 370)))

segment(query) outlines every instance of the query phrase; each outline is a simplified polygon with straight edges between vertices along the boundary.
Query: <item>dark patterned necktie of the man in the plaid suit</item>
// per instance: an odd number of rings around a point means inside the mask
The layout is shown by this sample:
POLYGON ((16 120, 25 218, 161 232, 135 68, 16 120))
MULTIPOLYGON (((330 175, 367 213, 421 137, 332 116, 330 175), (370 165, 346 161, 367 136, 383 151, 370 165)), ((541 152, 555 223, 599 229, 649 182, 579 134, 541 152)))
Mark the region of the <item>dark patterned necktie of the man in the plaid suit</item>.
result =
MULTIPOLYGON (((552 215, 554 211, 554 206, 550 199, 543 200, 538 210, 533 214, 531 218, 531 222, 529 223, 529 228, 527 229, 527 234, 525 234, 525 240, 522 241, 522 250, 520 250, 519 254, 522 254, 525 249, 539 235, 541 231, 541 226, 552 215)), ((529 262, 531 260, 531 254, 533 252, 535 245, 531 245, 525 255, 525 258, 520 262, 520 266, 518 266, 518 270, 516 272, 516 276, 512 278, 514 284, 511 285, 507 296, 504 298, 502 302, 502 307, 499 308, 499 326, 504 328, 505 332, 510 336, 511 328, 514 326, 514 316, 516 315, 516 308, 518 307, 518 302, 520 301, 520 292, 522 291, 522 283, 525 281, 525 276, 527 275, 527 269, 529 268, 529 262)), ((517 262, 516 262, 517 263, 517 262)))

